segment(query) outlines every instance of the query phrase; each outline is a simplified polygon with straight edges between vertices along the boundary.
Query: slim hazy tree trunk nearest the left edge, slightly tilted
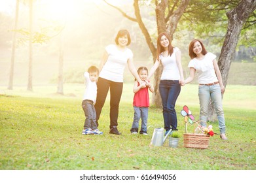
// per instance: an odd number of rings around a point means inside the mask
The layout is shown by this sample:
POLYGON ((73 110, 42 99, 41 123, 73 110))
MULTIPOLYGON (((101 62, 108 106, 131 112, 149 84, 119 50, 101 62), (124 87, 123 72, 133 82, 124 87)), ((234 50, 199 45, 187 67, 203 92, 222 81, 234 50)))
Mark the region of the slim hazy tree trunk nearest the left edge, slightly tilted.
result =
POLYGON ((8 84, 9 90, 12 90, 12 87, 13 87, 14 59, 15 59, 15 50, 16 50, 16 29, 18 25, 19 6, 20 6, 19 0, 16 0, 14 33, 12 37, 12 56, 10 58, 10 76, 9 76, 9 84, 8 84))

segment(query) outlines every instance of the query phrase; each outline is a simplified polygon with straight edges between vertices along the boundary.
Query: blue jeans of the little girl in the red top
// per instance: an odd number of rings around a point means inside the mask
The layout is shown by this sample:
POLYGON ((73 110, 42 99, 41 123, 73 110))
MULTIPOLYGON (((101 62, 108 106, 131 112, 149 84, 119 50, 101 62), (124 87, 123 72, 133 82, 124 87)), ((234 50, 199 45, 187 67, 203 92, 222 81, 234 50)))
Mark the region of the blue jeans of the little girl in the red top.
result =
POLYGON ((136 107, 134 106, 134 122, 132 123, 132 129, 138 131, 139 120, 141 118, 141 130, 139 133, 147 133, 147 117, 149 114, 149 107, 136 107))

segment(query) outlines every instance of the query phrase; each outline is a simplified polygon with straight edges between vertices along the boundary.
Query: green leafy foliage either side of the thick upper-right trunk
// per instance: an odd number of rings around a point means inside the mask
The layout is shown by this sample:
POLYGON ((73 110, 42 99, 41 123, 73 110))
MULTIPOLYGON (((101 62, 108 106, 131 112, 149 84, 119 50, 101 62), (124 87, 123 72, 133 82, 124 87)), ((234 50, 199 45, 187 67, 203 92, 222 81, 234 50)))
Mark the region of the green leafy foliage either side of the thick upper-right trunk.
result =
MULTIPOLYGON (((181 20, 183 23, 179 24, 177 31, 187 29, 192 32, 194 37, 205 39, 206 43, 211 41, 211 44, 215 45, 215 48, 222 46, 228 24, 226 13, 236 7, 239 2, 239 0, 191 0, 189 7, 185 14, 183 14, 181 20)), ((254 39, 255 19, 255 13, 248 18, 238 45, 256 45, 254 39), (250 26, 248 26, 248 24, 250 24, 250 26)))

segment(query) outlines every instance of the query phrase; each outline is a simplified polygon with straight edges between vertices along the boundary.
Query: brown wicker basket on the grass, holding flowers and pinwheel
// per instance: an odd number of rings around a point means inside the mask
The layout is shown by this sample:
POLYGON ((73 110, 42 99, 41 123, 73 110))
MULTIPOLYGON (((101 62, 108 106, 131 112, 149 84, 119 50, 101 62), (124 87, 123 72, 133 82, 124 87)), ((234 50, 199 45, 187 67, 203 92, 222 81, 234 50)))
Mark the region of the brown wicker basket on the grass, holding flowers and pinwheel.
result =
MULTIPOLYGON (((194 121, 195 128, 196 126, 200 126, 200 123, 205 123, 204 121, 194 121)), ((187 123, 185 124, 187 125, 187 123)), ((202 133, 184 133, 184 147, 185 148, 201 148, 205 149, 209 146, 210 135, 202 134, 202 133)))

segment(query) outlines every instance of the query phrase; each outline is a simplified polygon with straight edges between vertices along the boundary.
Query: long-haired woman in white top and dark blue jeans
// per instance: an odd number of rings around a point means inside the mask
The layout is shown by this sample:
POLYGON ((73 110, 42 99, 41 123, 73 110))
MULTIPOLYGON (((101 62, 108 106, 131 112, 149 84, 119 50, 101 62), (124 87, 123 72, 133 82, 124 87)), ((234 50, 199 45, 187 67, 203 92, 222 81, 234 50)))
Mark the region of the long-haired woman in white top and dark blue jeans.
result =
POLYGON ((149 78, 155 73, 160 63, 164 66, 160 78, 159 92, 162 98, 162 112, 164 116, 164 129, 166 133, 172 129, 177 130, 177 114, 175 103, 181 92, 181 83, 184 81, 181 67, 181 51, 171 44, 169 33, 160 33, 157 39, 156 61, 149 78))

